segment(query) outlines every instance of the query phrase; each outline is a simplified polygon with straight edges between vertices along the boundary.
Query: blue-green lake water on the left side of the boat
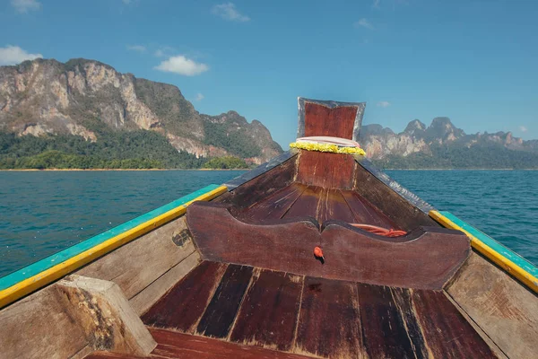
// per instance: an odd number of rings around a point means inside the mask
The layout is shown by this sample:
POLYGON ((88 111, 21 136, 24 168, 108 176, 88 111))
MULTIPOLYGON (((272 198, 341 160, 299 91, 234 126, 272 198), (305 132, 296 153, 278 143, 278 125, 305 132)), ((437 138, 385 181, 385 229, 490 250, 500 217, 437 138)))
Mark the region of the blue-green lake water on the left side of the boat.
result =
POLYGON ((0 171, 0 276, 244 171, 0 171))

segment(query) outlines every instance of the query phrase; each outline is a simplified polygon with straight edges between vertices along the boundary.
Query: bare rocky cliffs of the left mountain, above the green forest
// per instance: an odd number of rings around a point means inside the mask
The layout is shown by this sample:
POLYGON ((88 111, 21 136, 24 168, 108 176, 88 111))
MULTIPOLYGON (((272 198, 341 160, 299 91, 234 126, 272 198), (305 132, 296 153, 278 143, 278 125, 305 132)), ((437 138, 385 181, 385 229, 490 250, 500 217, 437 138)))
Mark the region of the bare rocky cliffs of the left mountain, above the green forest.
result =
POLYGON ((156 131, 197 156, 232 154, 261 163, 282 153, 259 121, 249 124, 234 111, 200 114, 176 86, 120 74, 98 61, 36 59, 0 67, 2 131, 97 141, 99 131, 133 129, 156 131))

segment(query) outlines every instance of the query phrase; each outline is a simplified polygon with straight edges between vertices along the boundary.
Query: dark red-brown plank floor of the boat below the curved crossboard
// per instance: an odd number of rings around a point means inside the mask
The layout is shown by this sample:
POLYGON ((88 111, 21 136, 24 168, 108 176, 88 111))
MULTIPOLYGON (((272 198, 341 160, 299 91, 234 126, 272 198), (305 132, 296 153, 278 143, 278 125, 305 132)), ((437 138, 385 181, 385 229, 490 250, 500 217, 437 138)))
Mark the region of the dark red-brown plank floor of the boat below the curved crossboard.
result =
MULTIPOLYGON (((213 261, 195 267, 142 319, 159 344, 152 355, 163 357, 234 356, 224 348, 238 357, 496 357, 443 291, 213 261)), ((115 357, 107 355, 90 357, 115 357)))

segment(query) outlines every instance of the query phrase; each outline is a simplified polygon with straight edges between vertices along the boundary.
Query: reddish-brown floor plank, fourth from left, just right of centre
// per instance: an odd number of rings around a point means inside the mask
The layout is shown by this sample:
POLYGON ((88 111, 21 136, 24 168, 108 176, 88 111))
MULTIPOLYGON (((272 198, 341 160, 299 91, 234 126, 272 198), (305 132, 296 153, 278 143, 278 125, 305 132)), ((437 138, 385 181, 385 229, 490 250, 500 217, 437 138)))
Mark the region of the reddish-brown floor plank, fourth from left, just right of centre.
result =
POLYGON ((356 285, 305 277, 294 352, 324 357, 366 356, 360 333, 356 285))

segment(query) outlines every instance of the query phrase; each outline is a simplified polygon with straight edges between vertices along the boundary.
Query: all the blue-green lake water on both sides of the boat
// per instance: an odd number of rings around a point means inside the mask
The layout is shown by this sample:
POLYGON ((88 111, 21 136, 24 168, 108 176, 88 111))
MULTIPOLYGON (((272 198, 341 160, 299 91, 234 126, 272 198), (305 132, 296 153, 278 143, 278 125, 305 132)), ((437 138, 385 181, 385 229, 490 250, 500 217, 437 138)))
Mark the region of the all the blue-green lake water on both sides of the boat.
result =
MULTIPOLYGON (((0 276, 243 171, 0 171, 0 276)), ((387 171, 538 263, 538 171, 387 171)))

